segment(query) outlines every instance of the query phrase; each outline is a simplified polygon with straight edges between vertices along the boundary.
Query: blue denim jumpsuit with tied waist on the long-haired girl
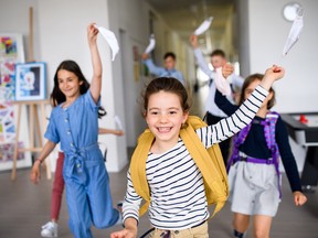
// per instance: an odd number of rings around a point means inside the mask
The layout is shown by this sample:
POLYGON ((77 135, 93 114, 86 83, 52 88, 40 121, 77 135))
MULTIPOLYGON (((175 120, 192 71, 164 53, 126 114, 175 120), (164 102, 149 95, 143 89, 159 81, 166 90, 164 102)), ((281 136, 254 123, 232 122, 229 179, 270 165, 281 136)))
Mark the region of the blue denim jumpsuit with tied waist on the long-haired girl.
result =
POLYGON ((75 237, 92 237, 91 224, 107 228, 116 224, 108 174, 98 148, 98 107, 91 91, 81 95, 68 108, 62 105, 51 113, 45 138, 61 143, 65 160, 63 176, 70 228, 75 237))

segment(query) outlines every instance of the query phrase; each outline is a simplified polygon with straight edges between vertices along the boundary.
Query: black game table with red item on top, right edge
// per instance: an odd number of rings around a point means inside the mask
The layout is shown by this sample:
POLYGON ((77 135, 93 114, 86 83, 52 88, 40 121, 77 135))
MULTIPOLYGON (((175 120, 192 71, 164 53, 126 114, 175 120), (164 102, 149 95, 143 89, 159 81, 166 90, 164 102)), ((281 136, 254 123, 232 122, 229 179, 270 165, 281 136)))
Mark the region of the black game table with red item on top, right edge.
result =
POLYGON ((318 182, 318 113, 282 113, 282 118, 289 136, 299 145, 307 148, 301 185, 310 191, 318 182))

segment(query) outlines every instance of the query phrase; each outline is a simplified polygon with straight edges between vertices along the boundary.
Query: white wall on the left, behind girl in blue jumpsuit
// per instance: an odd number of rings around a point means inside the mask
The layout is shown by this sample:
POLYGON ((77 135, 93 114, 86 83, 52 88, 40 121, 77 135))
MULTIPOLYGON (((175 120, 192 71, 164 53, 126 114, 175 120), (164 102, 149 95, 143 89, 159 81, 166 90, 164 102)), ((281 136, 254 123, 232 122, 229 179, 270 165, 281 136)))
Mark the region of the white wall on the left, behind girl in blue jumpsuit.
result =
MULTIPOLYGON (((108 28, 107 1, 1 0, 0 31, 21 32, 28 40, 30 6, 34 8, 34 57, 36 61, 47 63, 49 91, 53 88, 55 68, 64 60, 76 61, 84 75, 91 80, 93 71, 86 28, 91 22, 108 28), (12 15, 19 15, 19 18, 12 15)), ((115 105, 115 85, 109 47, 102 37, 98 39, 98 45, 103 61, 102 105, 108 112, 108 116, 99 121, 99 127, 115 128, 113 116, 117 113, 123 116, 124 109, 115 105)), ((108 171, 121 170, 128 163, 125 138, 103 136, 99 141, 105 142, 108 148, 106 164, 108 171)))

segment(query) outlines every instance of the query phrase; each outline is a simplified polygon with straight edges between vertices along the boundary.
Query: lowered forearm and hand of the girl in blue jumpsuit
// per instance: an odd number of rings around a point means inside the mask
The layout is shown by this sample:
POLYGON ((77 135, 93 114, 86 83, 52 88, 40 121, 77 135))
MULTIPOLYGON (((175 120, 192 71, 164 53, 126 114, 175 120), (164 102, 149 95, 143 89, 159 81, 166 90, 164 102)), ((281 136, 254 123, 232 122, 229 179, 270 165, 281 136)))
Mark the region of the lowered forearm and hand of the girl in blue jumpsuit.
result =
POLYGON ((44 162, 44 160, 47 158, 47 155, 54 150, 55 148, 55 143, 52 141, 47 141, 39 158, 36 159, 36 161, 34 162, 32 170, 31 170, 31 174, 30 174, 30 180, 34 183, 38 184, 40 178, 41 178, 41 173, 40 173, 40 165, 44 162))

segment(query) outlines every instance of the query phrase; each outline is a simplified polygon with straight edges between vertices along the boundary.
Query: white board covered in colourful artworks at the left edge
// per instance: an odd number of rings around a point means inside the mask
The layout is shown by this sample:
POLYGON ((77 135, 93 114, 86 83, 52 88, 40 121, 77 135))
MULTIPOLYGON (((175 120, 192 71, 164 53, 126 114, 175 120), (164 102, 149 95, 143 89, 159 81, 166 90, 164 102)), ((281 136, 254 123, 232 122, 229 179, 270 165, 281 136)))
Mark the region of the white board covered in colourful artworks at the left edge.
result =
MULTIPOLYGON (((0 171, 12 169, 15 141, 14 107, 15 64, 24 63, 22 34, 0 33, 0 171)), ((28 129, 28 126, 24 125, 28 129)), ((24 148, 28 133, 19 141, 24 148), (26 138, 25 138, 26 137, 26 138)), ((31 165, 31 154, 18 154, 18 167, 31 165)))

